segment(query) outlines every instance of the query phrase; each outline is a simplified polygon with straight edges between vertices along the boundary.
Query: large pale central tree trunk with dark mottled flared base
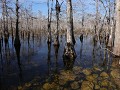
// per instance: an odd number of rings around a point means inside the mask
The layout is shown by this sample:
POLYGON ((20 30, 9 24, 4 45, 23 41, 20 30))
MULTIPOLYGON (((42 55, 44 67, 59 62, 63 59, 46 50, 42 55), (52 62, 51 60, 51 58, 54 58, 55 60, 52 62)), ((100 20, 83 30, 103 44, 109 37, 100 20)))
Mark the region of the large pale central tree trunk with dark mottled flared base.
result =
POLYGON ((67 44, 64 49, 64 58, 75 58, 76 53, 74 49, 73 42, 73 15, 72 15, 72 2, 71 0, 67 0, 67 44))

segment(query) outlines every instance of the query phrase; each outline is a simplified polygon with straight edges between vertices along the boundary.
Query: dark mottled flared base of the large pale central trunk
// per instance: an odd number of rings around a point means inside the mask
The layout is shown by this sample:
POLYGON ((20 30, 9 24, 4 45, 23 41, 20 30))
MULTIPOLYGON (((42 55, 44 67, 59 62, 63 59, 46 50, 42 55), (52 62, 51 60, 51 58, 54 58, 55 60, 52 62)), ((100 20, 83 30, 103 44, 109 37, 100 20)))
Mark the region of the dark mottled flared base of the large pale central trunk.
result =
POLYGON ((74 46, 71 45, 70 43, 67 43, 65 49, 64 49, 64 54, 63 54, 63 59, 75 59, 76 58, 76 52, 74 49, 74 46))

